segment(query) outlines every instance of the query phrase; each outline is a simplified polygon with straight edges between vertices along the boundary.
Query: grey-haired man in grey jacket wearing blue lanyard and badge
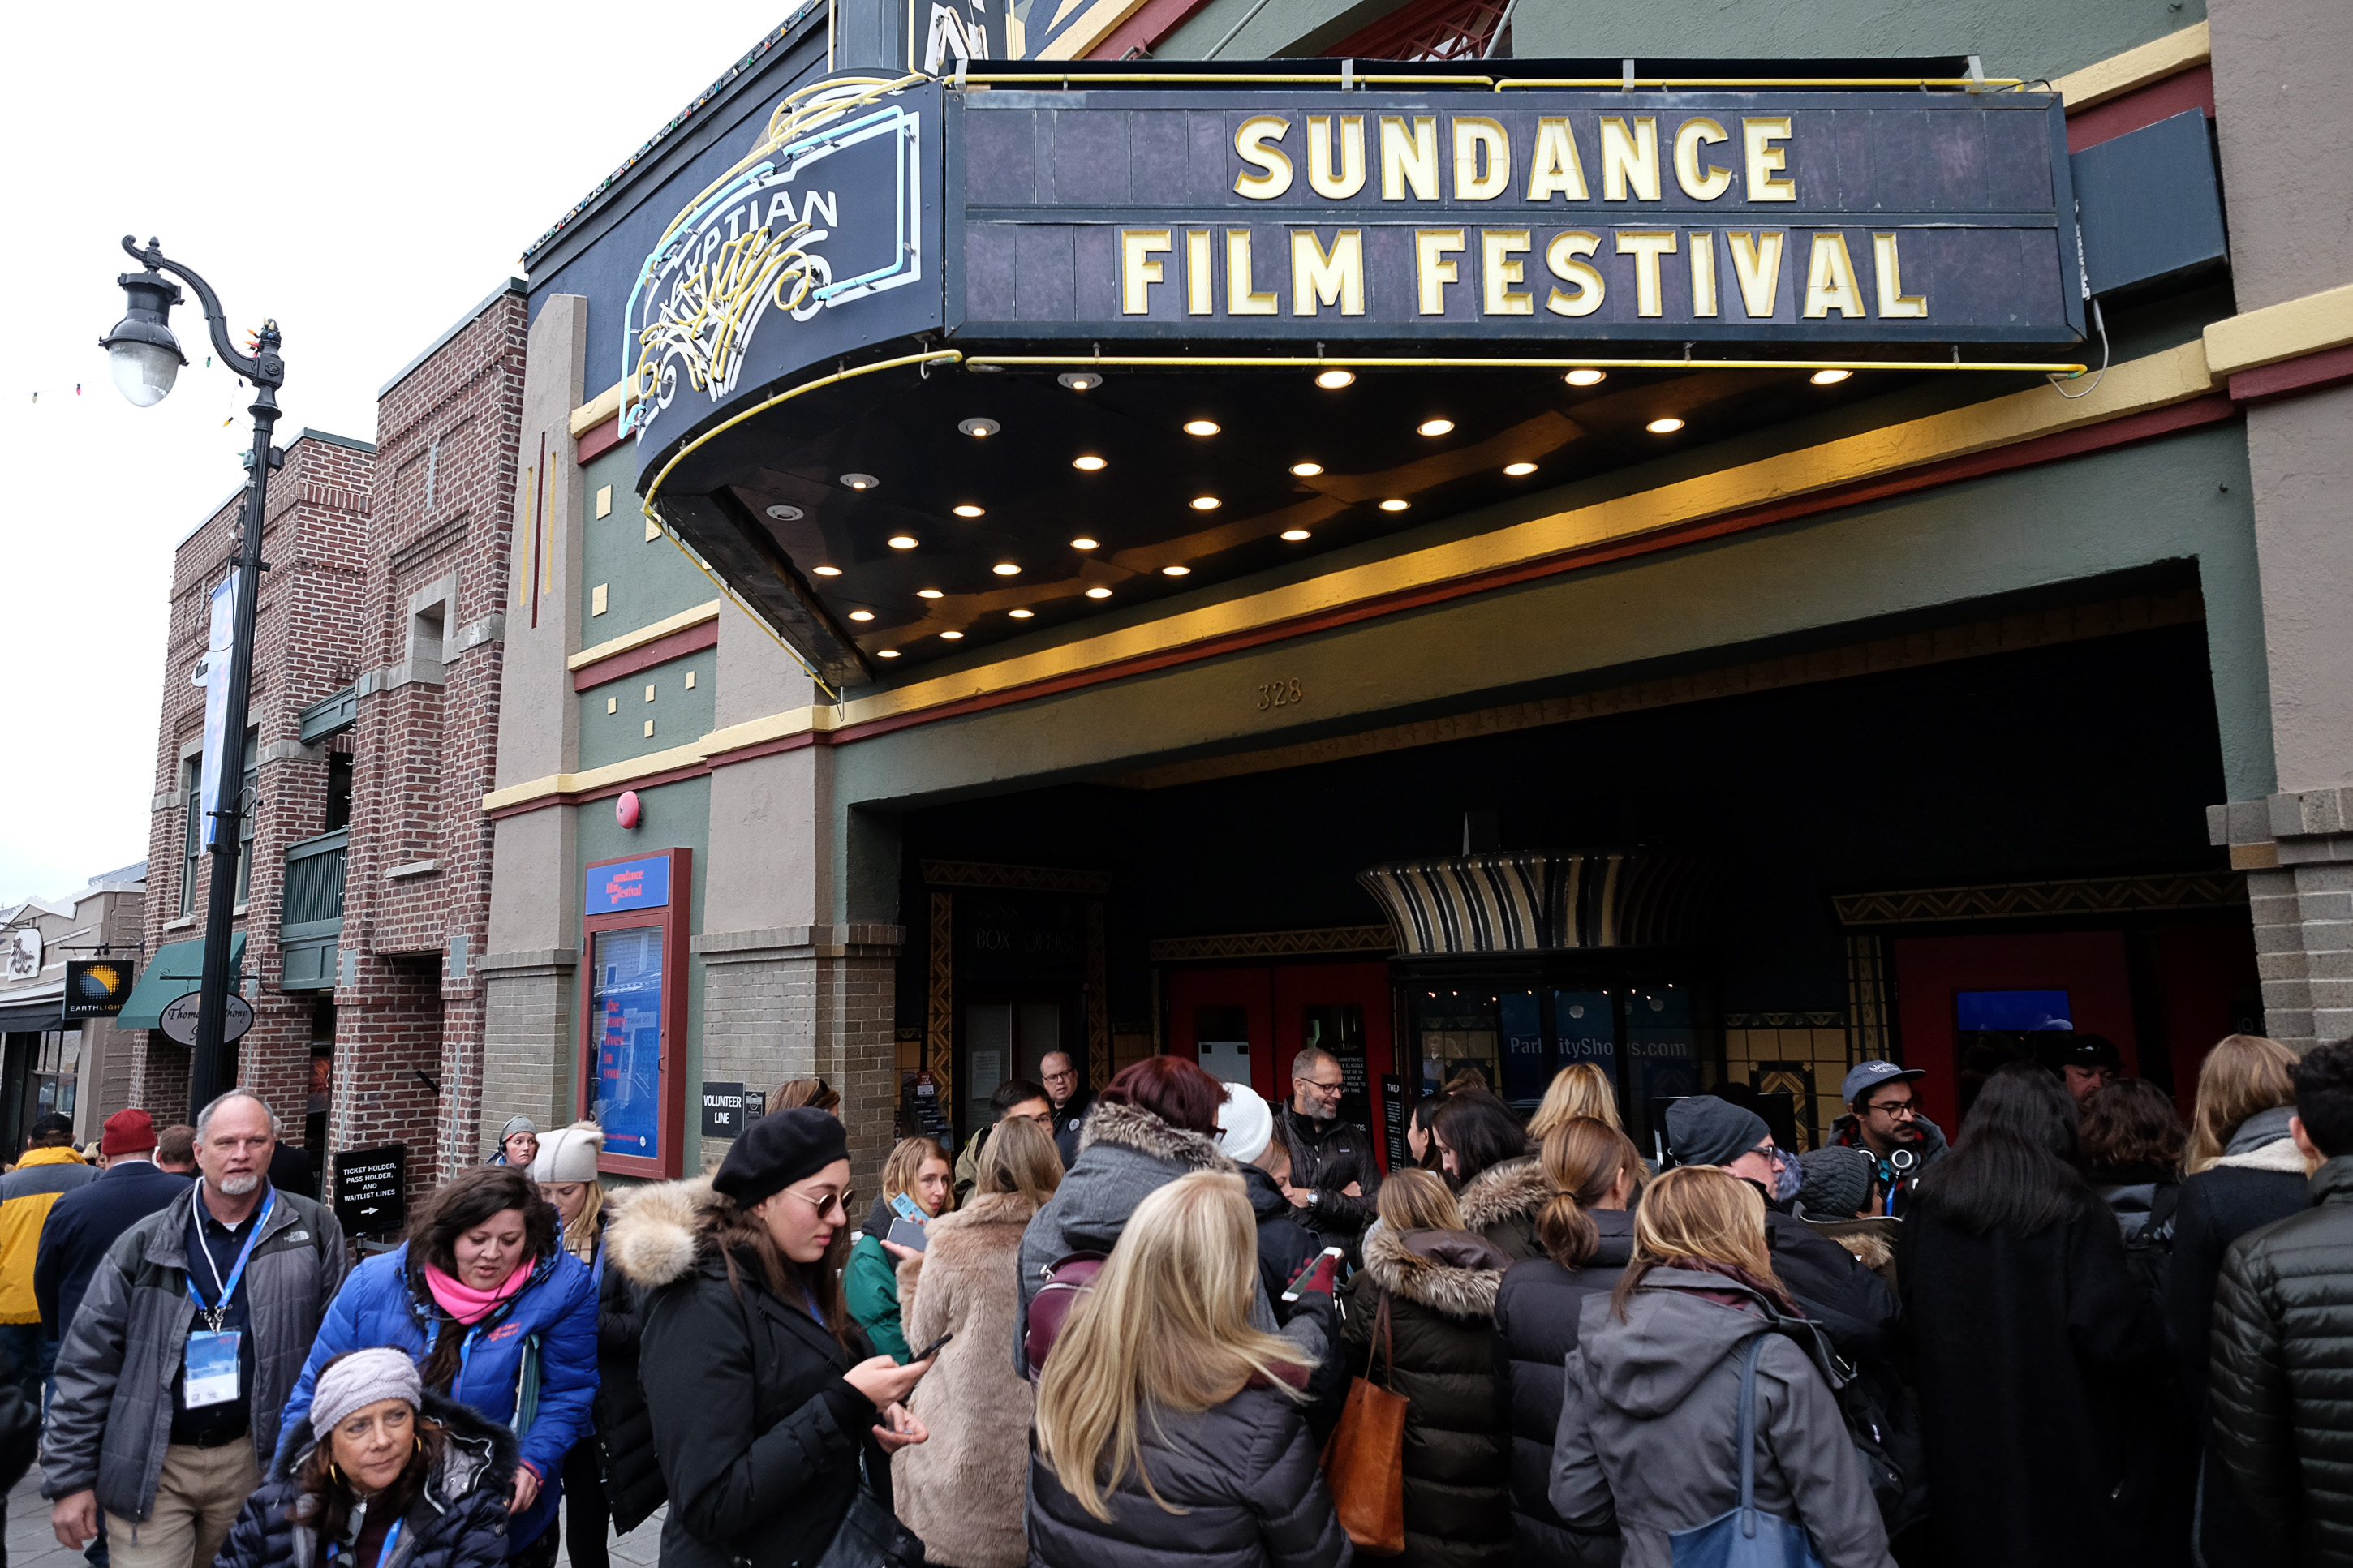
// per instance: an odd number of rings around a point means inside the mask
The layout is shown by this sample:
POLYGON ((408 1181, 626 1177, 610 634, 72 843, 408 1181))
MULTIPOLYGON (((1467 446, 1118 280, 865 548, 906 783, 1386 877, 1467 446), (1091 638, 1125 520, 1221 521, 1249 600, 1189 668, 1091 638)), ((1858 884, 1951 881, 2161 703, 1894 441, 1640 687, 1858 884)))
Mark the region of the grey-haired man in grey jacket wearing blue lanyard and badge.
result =
POLYGON ((205 1568, 278 1450, 344 1229, 268 1182, 278 1117, 233 1088, 195 1117, 202 1173, 106 1251, 56 1354, 42 1495, 64 1547, 205 1568), (195 1307, 191 1312, 191 1305, 195 1307))

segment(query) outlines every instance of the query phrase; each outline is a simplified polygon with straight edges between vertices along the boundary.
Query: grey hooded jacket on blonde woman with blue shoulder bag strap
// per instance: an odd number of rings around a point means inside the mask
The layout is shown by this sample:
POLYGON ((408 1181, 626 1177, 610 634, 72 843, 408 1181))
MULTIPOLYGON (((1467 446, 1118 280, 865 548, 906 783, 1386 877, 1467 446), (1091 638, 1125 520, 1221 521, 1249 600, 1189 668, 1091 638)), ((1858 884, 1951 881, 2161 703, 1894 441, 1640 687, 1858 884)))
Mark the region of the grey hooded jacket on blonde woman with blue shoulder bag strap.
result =
POLYGON ((1562 1378, 1553 1509, 1572 1530, 1626 1537, 1624 1568, 1671 1568, 1668 1535, 1739 1507, 1741 1371, 1758 1359, 1755 1500, 1814 1537, 1824 1568, 1889 1568, 1887 1528, 1831 1392, 1831 1347, 1755 1291, 1689 1269, 1654 1269, 1626 1302, 1584 1302, 1562 1378), (1739 1302, 1739 1305, 1727 1305, 1739 1302))

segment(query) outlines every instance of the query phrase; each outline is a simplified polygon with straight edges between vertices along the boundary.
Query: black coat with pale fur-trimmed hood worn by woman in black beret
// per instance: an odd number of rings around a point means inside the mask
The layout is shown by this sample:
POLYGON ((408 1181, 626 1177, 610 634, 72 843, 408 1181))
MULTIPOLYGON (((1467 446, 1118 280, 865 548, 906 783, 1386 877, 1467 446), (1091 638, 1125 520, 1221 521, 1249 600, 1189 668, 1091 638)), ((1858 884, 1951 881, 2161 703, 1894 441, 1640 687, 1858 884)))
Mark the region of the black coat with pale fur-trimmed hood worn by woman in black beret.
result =
POLYGON ((885 1502, 889 1462, 875 1408, 842 1380, 866 1359, 842 1349, 800 1302, 736 1262, 741 1295, 711 1241, 711 1178, 640 1190, 612 1225, 609 1262, 647 1293, 638 1382, 671 1493, 664 1568, 816 1563, 859 1486, 859 1458, 885 1502))

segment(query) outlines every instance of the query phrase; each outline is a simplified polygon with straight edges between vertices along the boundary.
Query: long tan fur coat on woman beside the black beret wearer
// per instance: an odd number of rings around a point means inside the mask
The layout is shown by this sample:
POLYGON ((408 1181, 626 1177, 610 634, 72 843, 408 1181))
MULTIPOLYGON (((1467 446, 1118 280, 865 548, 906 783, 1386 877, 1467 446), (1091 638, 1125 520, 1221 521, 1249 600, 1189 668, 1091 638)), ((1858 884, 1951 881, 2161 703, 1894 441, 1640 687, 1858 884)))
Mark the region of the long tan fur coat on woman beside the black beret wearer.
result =
POLYGON ((1028 1427, 1038 1396, 1005 1347, 1021 1309, 1014 1272, 1021 1229, 1038 1206, 986 1192, 929 1225, 922 1258, 899 1265, 906 1342, 955 1340, 915 1385, 908 1406, 932 1441, 892 1455, 899 1519, 922 1537, 925 1559, 953 1568, 1021 1568, 1028 1427))

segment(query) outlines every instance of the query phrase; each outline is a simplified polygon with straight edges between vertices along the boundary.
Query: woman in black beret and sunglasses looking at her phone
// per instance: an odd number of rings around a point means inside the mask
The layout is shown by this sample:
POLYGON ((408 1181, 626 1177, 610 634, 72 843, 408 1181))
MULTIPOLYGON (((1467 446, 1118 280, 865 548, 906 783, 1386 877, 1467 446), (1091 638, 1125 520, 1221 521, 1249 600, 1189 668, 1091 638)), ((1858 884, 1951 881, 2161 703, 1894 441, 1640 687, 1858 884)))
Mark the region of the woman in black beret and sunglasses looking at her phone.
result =
POLYGON ((609 1260, 647 1293, 638 1375, 671 1490, 664 1568, 816 1561, 859 1472, 925 1441, 929 1361, 871 1354, 842 1307, 849 1145, 821 1110, 753 1121, 711 1178, 640 1187, 609 1260), (864 1465, 861 1465, 864 1458, 864 1465))

